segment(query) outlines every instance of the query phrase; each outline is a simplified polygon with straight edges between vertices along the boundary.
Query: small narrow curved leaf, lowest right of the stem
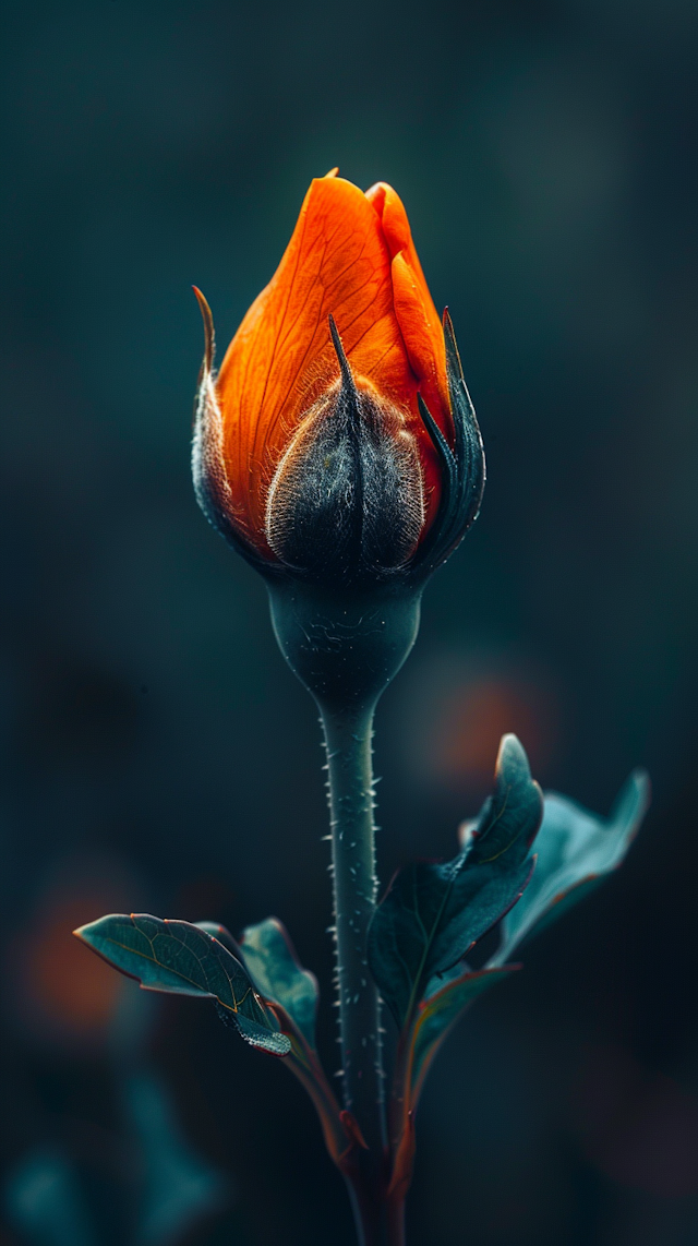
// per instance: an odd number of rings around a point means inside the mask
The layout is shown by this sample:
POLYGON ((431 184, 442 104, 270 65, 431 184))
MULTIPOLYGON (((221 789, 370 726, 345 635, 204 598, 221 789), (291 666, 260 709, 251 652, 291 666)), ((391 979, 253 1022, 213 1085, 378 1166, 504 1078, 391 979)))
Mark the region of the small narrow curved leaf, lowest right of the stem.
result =
POLYGON ((519 966, 507 964, 504 968, 480 969, 476 973, 466 969, 464 973, 452 977, 445 986, 433 991, 419 1006, 410 1035, 411 1108, 416 1106, 416 1100, 431 1060, 459 1017, 477 996, 484 994, 485 991, 496 986, 497 982, 509 977, 517 968, 519 966))

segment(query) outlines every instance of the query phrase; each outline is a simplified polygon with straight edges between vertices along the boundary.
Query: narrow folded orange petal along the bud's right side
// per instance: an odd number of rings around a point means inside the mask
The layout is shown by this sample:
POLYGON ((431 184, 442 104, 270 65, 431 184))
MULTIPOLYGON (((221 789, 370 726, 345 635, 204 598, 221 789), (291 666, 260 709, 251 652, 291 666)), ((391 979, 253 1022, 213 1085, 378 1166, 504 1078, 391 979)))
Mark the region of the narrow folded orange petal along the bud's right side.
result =
POLYGON ((395 315, 421 396, 441 431, 452 439, 441 320, 434 307, 400 196, 386 182, 366 191, 383 227, 393 265, 395 315))

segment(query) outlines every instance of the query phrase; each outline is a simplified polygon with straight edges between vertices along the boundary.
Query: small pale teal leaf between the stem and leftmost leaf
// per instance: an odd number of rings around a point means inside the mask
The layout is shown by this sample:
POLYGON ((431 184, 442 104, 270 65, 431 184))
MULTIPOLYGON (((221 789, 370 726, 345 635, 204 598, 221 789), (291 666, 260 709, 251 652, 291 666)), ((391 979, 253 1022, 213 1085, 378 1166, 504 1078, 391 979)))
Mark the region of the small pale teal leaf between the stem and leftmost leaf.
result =
POLYGON ((275 917, 248 926, 242 934, 241 952, 261 993, 285 1008, 314 1048, 318 979, 300 966, 285 926, 275 917))

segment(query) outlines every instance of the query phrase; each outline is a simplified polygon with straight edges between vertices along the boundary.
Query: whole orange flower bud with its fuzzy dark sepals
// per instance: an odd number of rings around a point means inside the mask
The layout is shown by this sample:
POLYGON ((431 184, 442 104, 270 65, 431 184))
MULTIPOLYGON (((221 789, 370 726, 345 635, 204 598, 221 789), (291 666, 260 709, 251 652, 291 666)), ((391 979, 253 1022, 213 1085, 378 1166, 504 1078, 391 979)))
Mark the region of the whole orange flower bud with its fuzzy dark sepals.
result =
POLYGON ((270 574, 385 579, 442 561, 476 515, 484 460, 395 191, 335 171, 310 184, 218 375, 196 293, 193 470, 212 523, 270 574))

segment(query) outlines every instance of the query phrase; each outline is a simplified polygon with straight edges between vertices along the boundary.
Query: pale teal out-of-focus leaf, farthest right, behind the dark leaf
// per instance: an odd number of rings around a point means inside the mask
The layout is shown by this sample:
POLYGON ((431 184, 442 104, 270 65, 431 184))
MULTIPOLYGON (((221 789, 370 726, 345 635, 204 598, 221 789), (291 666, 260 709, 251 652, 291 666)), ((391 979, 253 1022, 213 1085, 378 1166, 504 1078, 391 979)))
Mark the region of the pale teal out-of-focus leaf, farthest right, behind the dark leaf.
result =
POLYGON ((636 770, 610 817, 548 792, 536 839, 536 865, 519 903, 502 921, 501 944, 490 966, 504 964, 515 947, 581 900, 623 861, 649 804, 649 780, 636 770))

